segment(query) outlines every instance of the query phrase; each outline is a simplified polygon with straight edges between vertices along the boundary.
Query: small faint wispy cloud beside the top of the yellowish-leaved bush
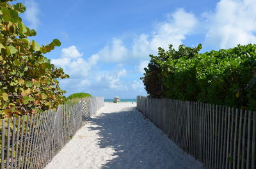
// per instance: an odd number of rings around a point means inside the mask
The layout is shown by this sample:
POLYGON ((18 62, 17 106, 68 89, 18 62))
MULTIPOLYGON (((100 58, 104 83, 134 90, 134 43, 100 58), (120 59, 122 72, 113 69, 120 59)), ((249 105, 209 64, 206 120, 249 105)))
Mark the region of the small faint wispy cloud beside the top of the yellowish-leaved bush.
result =
POLYGON ((25 5, 26 11, 24 14, 25 19, 30 23, 29 28, 36 29, 40 24, 40 19, 38 18, 40 13, 38 3, 36 3, 34 0, 26 0, 25 5))

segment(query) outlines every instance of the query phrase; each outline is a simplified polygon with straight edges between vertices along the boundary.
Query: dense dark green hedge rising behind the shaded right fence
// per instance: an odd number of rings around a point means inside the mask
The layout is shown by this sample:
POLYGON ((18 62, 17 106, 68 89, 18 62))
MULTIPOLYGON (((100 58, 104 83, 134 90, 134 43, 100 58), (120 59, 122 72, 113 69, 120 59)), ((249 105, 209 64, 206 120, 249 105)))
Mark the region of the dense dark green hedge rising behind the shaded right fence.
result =
POLYGON ((159 48, 141 79, 149 96, 256 110, 256 45, 200 54, 196 48, 159 48))

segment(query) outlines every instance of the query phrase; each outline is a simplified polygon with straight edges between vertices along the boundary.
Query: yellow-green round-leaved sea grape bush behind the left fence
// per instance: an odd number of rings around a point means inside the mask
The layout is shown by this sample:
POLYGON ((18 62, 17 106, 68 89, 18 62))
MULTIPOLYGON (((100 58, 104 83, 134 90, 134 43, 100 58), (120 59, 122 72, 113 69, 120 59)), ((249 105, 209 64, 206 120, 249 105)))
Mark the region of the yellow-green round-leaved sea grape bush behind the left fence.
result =
POLYGON ((26 27, 19 14, 24 4, 0 3, 0 118, 35 114, 64 103, 57 78, 67 78, 43 54, 61 45, 53 40, 40 46, 30 41, 36 31, 26 27))

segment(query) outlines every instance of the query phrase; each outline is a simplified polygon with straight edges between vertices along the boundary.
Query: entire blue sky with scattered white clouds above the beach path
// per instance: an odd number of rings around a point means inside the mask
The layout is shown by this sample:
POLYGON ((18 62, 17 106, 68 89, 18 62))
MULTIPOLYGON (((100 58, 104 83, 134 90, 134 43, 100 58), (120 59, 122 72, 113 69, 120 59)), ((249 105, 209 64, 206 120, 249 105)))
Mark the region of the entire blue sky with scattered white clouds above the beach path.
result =
POLYGON ((157 48, 184 44, 201 52, 256 43, 255 0, 17 0, 21 17, 41 45, 61 41, 46 54, 70 78, 65 96, 88 92, 104 98, 136 98, 157 48))

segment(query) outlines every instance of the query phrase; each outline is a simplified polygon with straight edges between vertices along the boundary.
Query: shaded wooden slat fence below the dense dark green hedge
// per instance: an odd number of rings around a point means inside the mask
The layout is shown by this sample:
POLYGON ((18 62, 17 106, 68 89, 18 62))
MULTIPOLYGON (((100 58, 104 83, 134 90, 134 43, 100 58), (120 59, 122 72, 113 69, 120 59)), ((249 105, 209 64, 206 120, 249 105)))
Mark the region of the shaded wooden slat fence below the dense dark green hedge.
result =
POLYGON ((137 109, 205 168, 256 168, 256 112, 143 96, 137 109))

